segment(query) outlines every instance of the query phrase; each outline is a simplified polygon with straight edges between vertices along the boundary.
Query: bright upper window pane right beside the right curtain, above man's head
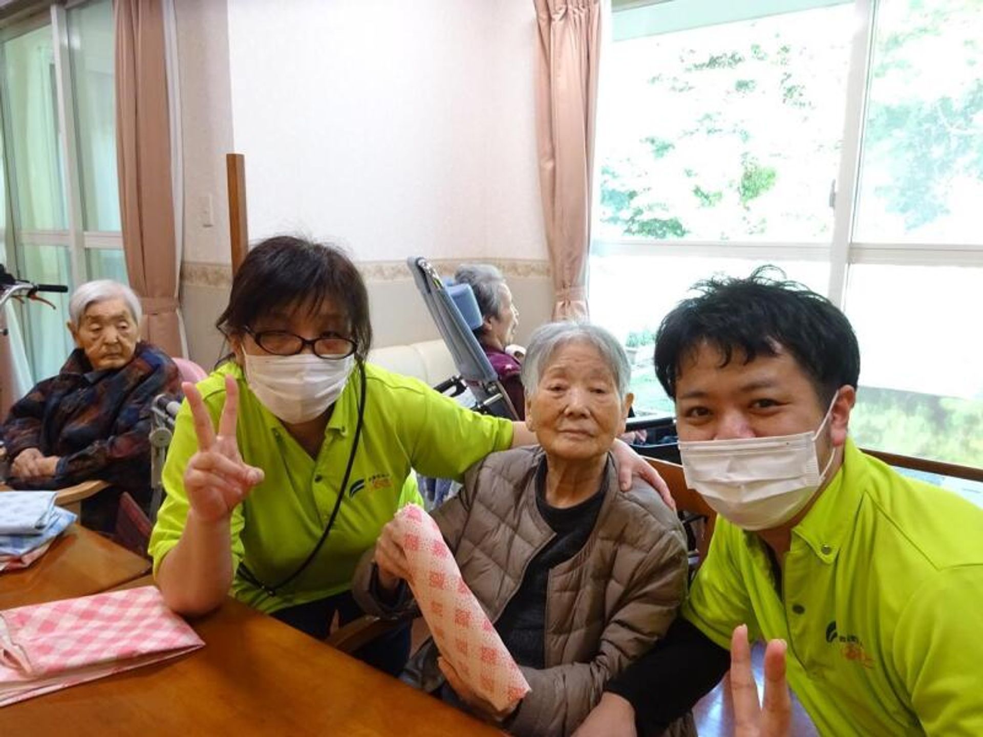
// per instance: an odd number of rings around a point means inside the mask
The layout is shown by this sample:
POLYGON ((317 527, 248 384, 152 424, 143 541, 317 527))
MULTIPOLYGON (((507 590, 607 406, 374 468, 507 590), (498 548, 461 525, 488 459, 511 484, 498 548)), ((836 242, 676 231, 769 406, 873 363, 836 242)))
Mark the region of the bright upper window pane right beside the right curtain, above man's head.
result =
POLYGON ((829 242, 850 14, 839 5, 617 44, 600 235, 829 242))

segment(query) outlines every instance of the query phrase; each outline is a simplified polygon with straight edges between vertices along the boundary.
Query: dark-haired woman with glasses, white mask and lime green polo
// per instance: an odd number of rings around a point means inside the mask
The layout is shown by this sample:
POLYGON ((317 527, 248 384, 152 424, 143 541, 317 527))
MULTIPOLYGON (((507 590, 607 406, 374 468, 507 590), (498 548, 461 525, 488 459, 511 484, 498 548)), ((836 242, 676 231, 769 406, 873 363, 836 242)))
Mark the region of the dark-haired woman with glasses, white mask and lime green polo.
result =
MULTIPOLYGON (((522 423, 471 412, 416 379, 368 364, 369 298, 338 249, 281 236, 253 248, 217 327, 228 360, 175 421, 166 498, 149 551, 157 585, 181 614, 230 593, 314 637, 351 595, 362 554, 407 501, 411 468, 459 479, 493 451, 531 444, 522 423)), ((651 467, 616 449, 628 486, 651 467)), ((665 489, 667 493, 667 489, 665 489)), ((357 656, 398 672, 409 628, 357 656)))

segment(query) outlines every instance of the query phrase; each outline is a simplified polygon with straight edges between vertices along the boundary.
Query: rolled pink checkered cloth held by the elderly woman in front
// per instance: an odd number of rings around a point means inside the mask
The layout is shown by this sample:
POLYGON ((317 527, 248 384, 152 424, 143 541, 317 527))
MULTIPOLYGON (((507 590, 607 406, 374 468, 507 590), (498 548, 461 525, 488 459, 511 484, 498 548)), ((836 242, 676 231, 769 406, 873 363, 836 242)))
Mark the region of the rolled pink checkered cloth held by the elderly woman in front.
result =
POLYGON ((415 504, 395 517, 397 541, 410 568, 410 589, 440 653, 495 709, 514 706, 529 684, 478 599, 461 578, 434 519, 415 504))

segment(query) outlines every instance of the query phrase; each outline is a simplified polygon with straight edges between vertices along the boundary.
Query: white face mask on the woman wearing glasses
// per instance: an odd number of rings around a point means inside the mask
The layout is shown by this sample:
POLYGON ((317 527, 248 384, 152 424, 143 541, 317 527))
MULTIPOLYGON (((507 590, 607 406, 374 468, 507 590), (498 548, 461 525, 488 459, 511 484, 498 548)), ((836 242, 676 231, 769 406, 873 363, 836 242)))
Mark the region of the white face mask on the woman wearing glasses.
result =
POLYGON ((355 358, 320 359, 313 353, 296 356, 253 356, 246 359, 246 381, 262 405, 290 425, 319 417, 341 395, 355 358))

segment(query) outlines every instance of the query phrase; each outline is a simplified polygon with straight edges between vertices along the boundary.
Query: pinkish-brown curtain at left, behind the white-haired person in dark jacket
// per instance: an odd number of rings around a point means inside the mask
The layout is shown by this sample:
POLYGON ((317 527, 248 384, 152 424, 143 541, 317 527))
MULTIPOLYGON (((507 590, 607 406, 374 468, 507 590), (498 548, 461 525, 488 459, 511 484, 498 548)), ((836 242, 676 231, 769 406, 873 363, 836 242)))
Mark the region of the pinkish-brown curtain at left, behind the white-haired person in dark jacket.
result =
POLYGON ((181 356, 161 0, 115 0, 116 148, 123 250, 145 339, 181 356))

